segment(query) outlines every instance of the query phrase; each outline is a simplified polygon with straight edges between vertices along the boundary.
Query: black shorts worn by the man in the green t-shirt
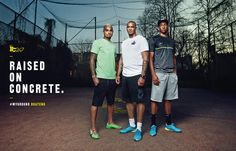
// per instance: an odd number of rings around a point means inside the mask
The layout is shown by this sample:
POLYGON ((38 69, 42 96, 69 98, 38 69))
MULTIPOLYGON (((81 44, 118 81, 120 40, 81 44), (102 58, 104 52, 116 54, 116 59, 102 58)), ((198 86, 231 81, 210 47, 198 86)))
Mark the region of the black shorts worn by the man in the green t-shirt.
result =
POLYGON ((116 93, 116 82, 115 80, 100 79, 99 84, 94 87, 93 93, 93 106, 102 106, 104 98, 106 97, 107 104, 113 105, 116 93))

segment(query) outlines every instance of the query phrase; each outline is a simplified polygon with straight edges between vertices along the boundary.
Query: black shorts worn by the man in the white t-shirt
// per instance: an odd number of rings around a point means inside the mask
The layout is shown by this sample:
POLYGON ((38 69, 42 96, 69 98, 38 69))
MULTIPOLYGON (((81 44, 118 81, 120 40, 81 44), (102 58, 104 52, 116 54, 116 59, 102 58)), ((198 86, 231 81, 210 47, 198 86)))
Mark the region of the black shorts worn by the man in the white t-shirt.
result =
POLYGON ((133 77, 122 76, 122 99, 127 103, 144 102, 144 88, 138 86, 139 77, 140 75, 133 77))

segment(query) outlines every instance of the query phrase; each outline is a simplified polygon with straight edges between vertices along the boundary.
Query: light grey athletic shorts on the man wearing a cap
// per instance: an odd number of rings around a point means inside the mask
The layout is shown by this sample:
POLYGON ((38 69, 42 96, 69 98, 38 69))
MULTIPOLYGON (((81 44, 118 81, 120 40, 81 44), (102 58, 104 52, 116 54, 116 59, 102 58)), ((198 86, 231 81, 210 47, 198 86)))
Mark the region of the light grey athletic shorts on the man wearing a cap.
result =
POLYGON ((151 100, 162 102, 163 100, 178 99, 178 77, 176 73, 156 72, 159 85, 152 83, 151 100))

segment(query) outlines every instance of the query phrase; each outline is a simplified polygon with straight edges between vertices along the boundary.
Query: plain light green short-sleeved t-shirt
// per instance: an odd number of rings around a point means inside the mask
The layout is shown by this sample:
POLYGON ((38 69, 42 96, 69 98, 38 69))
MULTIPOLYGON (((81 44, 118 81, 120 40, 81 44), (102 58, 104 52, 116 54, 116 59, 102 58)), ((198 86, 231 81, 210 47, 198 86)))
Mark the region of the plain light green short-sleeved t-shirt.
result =
POLYGON ((91 52, 97 54, 97 77, 103 79, 115 79, 115 44, 106 39, 98 39, 93 42, 91 52))

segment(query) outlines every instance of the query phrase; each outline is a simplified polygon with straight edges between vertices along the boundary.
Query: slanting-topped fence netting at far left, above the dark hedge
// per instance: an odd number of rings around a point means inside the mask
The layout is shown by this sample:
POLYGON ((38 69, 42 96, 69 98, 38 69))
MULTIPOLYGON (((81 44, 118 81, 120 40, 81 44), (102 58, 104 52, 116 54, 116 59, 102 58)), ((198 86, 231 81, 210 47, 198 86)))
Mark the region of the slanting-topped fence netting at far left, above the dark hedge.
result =
POLYGON ((34 38, 37 38, 42 43, 50 45, 51 47, 55 47, 59 43, 60 40, 52 34, 35 25, 1 2, 0 10, 0 44, 4 44, 7 41, 14 40, 21 42, 34 38), (50 41, 48 39, 50 39, 50 41))

